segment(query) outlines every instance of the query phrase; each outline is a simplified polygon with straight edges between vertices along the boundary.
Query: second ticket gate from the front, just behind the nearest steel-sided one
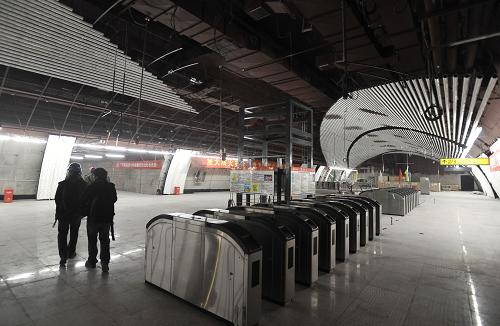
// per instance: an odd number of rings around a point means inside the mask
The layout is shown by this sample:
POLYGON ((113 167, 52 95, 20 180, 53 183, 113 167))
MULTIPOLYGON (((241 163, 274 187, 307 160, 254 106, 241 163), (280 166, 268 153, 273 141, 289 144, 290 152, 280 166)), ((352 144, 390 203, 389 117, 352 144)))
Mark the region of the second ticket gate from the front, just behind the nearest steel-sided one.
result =
POLYGON ((262 245, 262 298, 281 305, 293 299, 295 235, 289 228, 270 218, 235 215, 223 209, 203 209, 193 215, 233 221, 246 229, 262 245))

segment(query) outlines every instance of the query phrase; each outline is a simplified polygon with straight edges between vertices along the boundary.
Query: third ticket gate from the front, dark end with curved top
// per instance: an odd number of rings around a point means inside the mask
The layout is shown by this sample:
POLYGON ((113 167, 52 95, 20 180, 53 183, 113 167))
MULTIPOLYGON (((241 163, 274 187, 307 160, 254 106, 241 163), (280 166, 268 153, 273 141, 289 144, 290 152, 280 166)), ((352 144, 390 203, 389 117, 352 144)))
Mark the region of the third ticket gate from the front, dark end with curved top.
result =
POLYGON ((311 219, 293 212, 259 210, 255 206, 228 209, 231 214, 251 216, 251 219, 274 219, 276 223, 287 226, 295 235, 295 282, 310 286, 318 280, 319 230, 311 219))

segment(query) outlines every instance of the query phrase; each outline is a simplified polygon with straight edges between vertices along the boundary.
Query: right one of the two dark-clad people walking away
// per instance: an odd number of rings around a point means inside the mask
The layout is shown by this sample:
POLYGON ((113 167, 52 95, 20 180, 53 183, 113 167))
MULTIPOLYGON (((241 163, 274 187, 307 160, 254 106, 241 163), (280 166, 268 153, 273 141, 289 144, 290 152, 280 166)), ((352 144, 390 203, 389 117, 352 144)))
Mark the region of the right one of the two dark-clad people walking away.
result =
POLYGON ((109 271, 109 232, 113 226, 115 215, 116 189, 108 181, 108 172, 103 168, 94 170, 95 180, 87 187, 83 196, 83 205, 87 217, 87 237, 89 258, 85 262, 87 268, 95 268, 97 264, 97 239, 101 243, 101 267, 103 272, 109 271))

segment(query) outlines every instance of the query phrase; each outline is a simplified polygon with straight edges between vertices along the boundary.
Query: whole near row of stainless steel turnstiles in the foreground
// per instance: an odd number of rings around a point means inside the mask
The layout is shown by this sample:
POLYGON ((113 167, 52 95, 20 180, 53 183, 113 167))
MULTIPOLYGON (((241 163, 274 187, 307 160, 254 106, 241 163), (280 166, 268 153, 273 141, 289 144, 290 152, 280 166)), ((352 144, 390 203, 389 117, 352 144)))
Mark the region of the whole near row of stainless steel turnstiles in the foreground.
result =
POLYGON ((368 197, 329 195, 159 215, 146 226, 145 280, 254 325, 262 298, 287 304, 296 282, 313 285, 380 235, 381 212, 368 197))

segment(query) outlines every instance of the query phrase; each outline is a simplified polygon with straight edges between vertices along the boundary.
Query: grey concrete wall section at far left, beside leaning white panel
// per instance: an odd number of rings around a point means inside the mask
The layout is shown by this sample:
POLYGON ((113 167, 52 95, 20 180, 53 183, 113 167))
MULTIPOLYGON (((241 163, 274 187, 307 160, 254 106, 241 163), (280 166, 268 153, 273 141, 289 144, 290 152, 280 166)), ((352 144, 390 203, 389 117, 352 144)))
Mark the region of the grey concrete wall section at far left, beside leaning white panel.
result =
POLYGON ((14 189, 14 197, 35 196, 46 144, 0 140, 0 191, 14 189))

